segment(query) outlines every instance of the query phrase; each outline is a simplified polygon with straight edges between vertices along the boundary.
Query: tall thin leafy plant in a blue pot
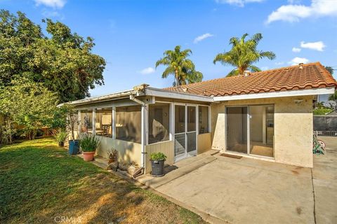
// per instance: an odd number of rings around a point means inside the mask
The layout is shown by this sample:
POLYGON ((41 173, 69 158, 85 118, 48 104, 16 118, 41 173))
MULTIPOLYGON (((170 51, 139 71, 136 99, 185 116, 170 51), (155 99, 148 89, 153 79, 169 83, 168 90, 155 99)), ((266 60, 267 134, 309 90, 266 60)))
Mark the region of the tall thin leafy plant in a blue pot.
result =
POLYGON ((67 130, 71 132, 72 139, 69 140, 69 154, 77 155, 79 153, 79 139, 75 138, 75 127, 79 126, 79 115, 70 104, 65 104, 65 111, 67 114, 67 130))

